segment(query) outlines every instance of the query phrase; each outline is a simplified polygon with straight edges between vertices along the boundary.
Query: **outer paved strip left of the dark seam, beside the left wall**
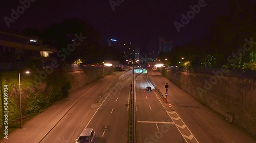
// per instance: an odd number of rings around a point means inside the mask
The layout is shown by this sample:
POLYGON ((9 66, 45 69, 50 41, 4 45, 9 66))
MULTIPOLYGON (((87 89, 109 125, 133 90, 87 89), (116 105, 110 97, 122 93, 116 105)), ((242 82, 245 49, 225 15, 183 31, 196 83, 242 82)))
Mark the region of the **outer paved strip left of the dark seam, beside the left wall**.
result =
MULTIPOLYGON (((8 139, 1 138, 1 143, 20 143, 33 137, 34 142, 38 142, 42 136, 44 136, 62 117, 65 115, 68 109, 77 102, 83 95, 88 94, 94 90, 97 85, 108 82, 111 75, 106 75, 104 78, 94 81, 88 85, 73 91, 69 94, 68 98, 55 102, 51 107, 35 116, 29 122, 27 122, 21 129, 13 131, 8 134, 8 139), (38 134, 39 133, 39 134, 38 134)), ((111 81, 111 80, 110 80, 111 81)), ((93 99, 92 99, 93 100, 93 99)), ((93 101, 92 101, 93 102, 93 101)), ((31 142, 31 143, 34 143, 31 142)), ((30 143, 30 142, 26 142, 30 143)))

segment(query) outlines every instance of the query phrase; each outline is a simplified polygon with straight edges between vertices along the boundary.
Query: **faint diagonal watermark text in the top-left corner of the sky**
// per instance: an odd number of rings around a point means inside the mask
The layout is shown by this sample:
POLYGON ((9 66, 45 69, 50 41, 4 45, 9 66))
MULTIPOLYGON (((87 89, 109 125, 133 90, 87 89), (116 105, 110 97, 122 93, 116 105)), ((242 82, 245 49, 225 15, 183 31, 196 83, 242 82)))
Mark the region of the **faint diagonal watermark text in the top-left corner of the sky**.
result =
POLYGON ((36 0, 20 0, 19 3, 21 5, 16 8, 16 11, 14 9, 11 9, 11 18, 7 16, 4 17, 7 27, 10 27, 10 23, 15 22, 15 20, 19 18, 20 14, 23 14, 25 10, 30 7, 31 3, 34 3, 35 1, 36 0))

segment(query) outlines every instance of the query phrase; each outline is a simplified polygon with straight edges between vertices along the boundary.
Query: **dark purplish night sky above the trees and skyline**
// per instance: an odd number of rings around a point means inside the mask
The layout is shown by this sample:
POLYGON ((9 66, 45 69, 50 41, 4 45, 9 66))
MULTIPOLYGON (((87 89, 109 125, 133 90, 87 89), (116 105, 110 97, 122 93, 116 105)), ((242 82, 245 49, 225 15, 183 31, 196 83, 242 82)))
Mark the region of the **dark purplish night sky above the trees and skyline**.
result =
MULTIPOLYGON (((22 0, 24 1, 24 0, 22 0)), ((32 1, 32 0, 30 0, 32 1)), ((119 0, 119 6, 110 5, 110 1, 74 0, 42 1, 33 0, 30 7, 20 14, 8 27, 4 17, 11 17, 11 9, 20 6, 19 1, 1 1, 0 27, 22 32, 25 28, 38 28, 44 31, 51 23, 60 23, 66 18, 81 18, 89 23, 101 35, 102 43, 115 38, 119 43, 133 42, 141 47, 146 43, 147 51, 158 51, 159 36, 173 40, 174 45, 182 45, 209 32, 212 20, 219 14, 228 14, 226 1, 205 0, 205 7, 190 19, 185 27, 177 31, 174 22, 181 23, 181 14, 187 14, 189 7, 198 5, 202 0, 163 0, 135 1, 119 0)), ((112 0, 118 2, 118 0, 112 0)))

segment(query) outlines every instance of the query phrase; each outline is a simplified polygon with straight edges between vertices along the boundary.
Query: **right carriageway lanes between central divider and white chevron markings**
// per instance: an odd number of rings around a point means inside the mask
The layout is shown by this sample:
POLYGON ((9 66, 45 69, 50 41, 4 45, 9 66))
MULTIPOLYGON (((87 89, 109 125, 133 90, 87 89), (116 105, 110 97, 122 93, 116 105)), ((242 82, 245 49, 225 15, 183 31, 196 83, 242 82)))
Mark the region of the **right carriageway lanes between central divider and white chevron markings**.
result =
POLYGON ((153 87, 146 74, 139 75, 136 84, 137 142, 185 142, 155 95, 155 89, 145 90, 147 86, 153 87))

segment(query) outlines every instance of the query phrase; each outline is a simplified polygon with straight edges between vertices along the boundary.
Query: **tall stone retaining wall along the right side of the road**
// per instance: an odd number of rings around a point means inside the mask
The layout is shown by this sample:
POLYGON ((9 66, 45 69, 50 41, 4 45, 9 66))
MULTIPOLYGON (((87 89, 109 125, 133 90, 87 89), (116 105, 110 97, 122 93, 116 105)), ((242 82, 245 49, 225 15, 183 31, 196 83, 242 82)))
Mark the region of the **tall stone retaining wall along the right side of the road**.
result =
POLYGON ((189 71, 160 72, 202 104, 226 116, 256 137, 256 78, 189 71))

